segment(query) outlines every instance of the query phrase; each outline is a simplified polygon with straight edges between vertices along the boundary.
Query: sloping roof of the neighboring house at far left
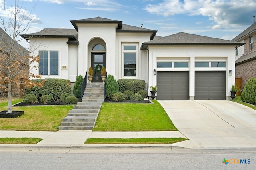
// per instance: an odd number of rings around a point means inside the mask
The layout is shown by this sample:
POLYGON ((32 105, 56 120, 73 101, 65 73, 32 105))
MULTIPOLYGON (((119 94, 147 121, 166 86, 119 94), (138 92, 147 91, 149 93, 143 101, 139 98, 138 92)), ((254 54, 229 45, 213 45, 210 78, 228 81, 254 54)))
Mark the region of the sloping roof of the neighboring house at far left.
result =
POLYGON ((21 46, 18 42, 14 42, 14 40, 2 28, 0 28, 0 50, 10 53, 11 48, 12 51, 17 51, 20 55, 29 54, 26 48, 21 46), (12 46, 13 43, 14 46, 12 46))

